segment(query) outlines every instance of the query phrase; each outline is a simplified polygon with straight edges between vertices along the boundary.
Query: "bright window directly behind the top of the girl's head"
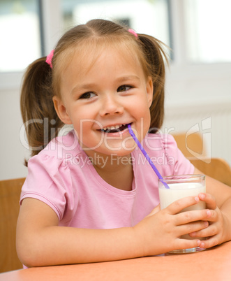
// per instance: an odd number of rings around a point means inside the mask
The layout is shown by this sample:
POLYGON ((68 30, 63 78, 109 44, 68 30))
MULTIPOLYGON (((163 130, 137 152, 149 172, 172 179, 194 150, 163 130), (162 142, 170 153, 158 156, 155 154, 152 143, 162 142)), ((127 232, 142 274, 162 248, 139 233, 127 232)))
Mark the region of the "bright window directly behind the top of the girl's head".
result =
POLYGON ((101 18, 117 20, 170 45, 167 0, 61 0, 65 31, 101 18))

